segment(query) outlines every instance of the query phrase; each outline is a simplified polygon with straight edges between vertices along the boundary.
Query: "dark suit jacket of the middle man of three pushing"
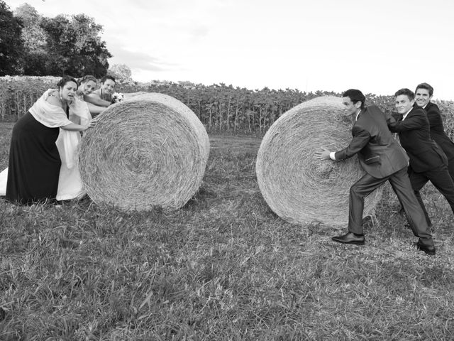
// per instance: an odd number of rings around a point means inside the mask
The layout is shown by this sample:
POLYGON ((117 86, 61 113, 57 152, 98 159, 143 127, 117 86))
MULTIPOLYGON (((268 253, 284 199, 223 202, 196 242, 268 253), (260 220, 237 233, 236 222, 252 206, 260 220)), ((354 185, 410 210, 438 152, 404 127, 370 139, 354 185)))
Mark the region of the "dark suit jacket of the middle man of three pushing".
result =
POLYGON ((396 121, 387 117, 389 130, 399 133, 399 140, 410 158, 410 167, 417 173, 447 164, 445 153, 431 139, 430 126, 424 109, 413 107, 406 118, 396 121))

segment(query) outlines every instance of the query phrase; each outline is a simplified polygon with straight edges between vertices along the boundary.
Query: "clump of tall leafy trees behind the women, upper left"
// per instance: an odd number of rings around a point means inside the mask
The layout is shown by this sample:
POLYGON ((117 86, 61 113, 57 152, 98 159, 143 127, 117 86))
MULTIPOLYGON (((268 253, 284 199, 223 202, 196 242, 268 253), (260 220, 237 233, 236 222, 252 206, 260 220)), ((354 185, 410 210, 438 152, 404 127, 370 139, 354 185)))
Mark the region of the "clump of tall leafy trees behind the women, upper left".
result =
POLYGON ((29 4, 11 11, 0 0, 0 76, 102 77, 112 55, 101 33, 85 14, 48 18, 29 4))

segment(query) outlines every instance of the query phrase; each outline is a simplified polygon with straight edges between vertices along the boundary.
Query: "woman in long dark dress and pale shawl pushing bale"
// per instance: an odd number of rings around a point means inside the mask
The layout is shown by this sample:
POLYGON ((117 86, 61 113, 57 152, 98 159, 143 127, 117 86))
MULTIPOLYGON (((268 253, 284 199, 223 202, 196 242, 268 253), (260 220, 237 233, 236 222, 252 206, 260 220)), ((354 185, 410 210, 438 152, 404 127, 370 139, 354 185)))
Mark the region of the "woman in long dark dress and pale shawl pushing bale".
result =
POLYGON ((55 141, 60 128, 84 131, 95 124, 92 120, 82 126, 68 119, 77 81, 64 76, 57 85, 58 90, 46 91, 13 127, 6 183, 10 202, 55 201, 61 166, 55 141))

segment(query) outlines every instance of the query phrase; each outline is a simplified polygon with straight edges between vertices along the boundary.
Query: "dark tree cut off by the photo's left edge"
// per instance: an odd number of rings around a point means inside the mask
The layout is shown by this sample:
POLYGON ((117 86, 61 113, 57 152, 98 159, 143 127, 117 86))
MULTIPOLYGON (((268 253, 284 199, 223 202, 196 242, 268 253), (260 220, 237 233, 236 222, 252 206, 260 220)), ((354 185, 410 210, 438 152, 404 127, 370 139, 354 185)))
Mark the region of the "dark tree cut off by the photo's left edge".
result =
POLYGON ((23 42, 22 23, 13 16, 9 6, 0 0, 0 76, 21 72, 23 42))

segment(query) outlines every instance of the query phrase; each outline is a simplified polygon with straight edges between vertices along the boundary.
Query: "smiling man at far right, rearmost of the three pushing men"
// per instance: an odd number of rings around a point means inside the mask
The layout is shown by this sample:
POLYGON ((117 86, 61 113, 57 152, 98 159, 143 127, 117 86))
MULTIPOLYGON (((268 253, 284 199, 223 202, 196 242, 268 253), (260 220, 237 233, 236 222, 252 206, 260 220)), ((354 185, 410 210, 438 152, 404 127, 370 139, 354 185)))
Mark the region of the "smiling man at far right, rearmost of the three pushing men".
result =
POLYGON ((415 104, 426 110, 428 123, 431 126, 431 138, 436 141, 446 154, 449 174, 454 180, 454 142, 445 133, 440 109, 438 109, 437 104, 431 102, 432 96, 433 87, 427 83, 421 83, 416 87, 415 104))

